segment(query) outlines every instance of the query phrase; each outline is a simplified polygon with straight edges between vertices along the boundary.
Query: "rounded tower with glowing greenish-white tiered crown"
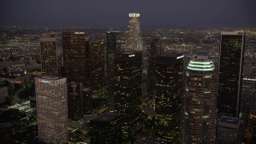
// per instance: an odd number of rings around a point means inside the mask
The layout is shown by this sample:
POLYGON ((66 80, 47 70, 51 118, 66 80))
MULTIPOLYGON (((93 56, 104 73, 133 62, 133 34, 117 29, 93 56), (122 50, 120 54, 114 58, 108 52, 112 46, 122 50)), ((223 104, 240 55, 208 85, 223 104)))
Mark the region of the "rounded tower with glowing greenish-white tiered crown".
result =
POLYGON ((182 98, 182 143, 216 143, 217 69, 208 56, 194 55, 186 67, 182 98))

